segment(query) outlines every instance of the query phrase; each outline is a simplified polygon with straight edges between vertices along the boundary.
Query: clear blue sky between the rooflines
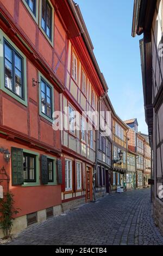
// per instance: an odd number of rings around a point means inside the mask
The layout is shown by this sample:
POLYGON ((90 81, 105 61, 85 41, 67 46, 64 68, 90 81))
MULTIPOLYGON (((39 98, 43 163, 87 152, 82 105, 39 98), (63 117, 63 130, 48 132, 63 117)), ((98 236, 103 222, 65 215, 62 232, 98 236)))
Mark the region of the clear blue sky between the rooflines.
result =
POLYGON ((143 106, 139 40, 131 37, 134 0, 76 0, 91 36, 94 53, 122 120, 137 118, 148 132, 143 106))

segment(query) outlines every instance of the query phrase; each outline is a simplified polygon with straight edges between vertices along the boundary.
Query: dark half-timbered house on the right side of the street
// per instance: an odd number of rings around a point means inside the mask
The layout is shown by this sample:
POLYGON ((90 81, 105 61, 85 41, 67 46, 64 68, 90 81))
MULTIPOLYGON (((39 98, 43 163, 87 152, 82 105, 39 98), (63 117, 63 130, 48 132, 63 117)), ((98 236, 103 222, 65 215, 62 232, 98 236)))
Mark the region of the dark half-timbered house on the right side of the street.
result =
POLYGON ((162 83, 162 0, 134 1, 132 36, 140 40, 143 93, 149 142, 153 154, 153 204, 156 224, 163 232, 163 83, 162 83))

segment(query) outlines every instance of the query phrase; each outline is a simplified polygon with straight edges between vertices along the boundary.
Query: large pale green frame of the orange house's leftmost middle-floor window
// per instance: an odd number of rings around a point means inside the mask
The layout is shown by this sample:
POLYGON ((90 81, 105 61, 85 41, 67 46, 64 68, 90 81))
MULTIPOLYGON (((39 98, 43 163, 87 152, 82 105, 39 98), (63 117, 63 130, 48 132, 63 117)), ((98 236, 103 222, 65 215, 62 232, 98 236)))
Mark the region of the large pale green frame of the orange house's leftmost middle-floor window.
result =
POLYGON ((16 101, 20 102, 24 106, 28 106, 27 101, 27 63, 26 63, 26 56, 18 49, 18 47, 12 42, 8 36, 0 29, 0 47, 1 47, 1 59, 0 59, 0 89, 3 90, 3 92, 7 93, 9 96, 14 98, 16 101), (15 94, 10 90, 9 88, 5 87, 5 66, 4 66, 4 42, 7 42, 7 45, 10 46, 10 48, 13 48, 15 52, 17 52, 18 56, 20 56, 23 60, 22 66, 22 76, 23 76, 23 99, 19 95, 15 94))

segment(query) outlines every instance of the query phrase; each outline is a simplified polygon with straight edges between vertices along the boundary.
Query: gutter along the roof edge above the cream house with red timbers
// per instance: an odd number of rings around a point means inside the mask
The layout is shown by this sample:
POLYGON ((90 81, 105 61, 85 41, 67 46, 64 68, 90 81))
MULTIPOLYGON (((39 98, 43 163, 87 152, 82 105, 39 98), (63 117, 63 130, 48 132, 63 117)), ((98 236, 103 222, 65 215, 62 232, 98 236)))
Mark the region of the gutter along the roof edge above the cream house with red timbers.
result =
POLYGON ((81 20, 83 20, 83 17, 82 15, 79 13, 79 11, 77 11, 77 8, 76 5, 74 5, 74 2, 73 0, 68 0, 68 3, 70 4, 70 7, 71 7, 71 10, 72 10, 72 13, 78 23, 78 26, 80 28, 80 32, 82 33, 83 37, 84 37, 84 40, 85 40, 85 43, 86 43, 86 46, 89 50, 89 53, 90 53, 90 56, 92 58, 92 61, 93 61, 93 64, 95 65, 95 68, 96 68, 96 71, 97 71, 97 74, 99 76, 99 79, 101 80, 101 83, 102 83, 102 86, 104 88, 104 90, 108 91, 108 86, 106 84, 106 81, 104 79, 104 76, 102 74, 102 72, 100 71, 99 69, 99 66, 98 66, 98 63, 97 63, 97 60, 96 60, 96 57, 95 57, 95 54, 93 53, 93 46, 92 46, 92 43, 91 43, 91 40, 89 38, 89 35, 88 33, 85 32, 84 30, 84 25, 82 24, 81 20))

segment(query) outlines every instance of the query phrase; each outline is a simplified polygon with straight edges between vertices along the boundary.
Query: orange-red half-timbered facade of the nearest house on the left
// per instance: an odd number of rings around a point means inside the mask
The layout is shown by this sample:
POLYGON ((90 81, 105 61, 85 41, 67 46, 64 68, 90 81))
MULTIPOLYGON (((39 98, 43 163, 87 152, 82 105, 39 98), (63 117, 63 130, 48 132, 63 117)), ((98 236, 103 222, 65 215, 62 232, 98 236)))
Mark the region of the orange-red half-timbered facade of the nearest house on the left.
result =
POLYGON ((61 133, 54 131, 52 122, 40 114, 39 83, 40 77, 43 77, 51 84, 53 109, 60 111, 60 93, 65 83, 67 35, 52 5, 54 1, 49 2, 54 21, 52 42, 49 42, 39 25, 41 1, 36 1, 37 20, 25 1, 0 1, 1 34, 14 50, 24 56, 26 70, 23 80, 24 84, 25 81, 27 83, 27 99, 25 95, 24 102, 18 101, 14 94, 0 89, 0 148, 9 149, 10 153, 11 148, 23 149, 23 152, 35 154, 38 163, 35 184, 24 182, 23 185, 12 185, 12 159, 6 163, 3 154, 0 154, 0 168, 4 166, 10 176, 9 189, 14 194, 15 207, 21 208, 16 217, 61 205, 61 185, 57 184, 61 133), (41 183, 41 155, 54 159, 56 182, 53 185, 41 183))

